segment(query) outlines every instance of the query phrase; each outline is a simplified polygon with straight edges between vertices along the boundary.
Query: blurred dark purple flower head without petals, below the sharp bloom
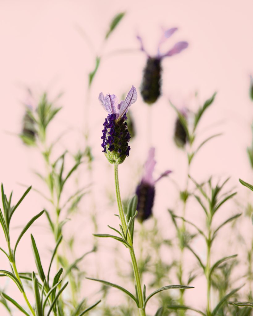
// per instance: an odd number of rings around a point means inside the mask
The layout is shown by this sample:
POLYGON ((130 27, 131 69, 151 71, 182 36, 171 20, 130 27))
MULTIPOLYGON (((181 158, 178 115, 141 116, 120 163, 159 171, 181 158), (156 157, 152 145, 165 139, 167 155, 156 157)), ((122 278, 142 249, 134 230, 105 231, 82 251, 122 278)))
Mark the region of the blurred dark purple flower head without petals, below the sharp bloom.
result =
POLYGON ((137 218, 143 222, 152 215, 155 187, 149 183, 141 182, 136 188, 136 195, 138 196, 137 218))

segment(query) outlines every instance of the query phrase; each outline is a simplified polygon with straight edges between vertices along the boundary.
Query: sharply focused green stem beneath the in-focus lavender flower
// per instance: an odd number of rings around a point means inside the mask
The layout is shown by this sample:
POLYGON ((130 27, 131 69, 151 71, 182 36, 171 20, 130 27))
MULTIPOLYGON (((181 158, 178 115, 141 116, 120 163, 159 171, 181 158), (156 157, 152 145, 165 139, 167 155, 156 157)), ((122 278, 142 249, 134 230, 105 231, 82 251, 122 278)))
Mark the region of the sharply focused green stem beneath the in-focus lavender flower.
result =
MULTIPOLYGON (((119 208, 120 222, 121 222, 121 225, 122 225, 124 232, 126 232, 127 223, 126 223, 126 219, 124 216, 124 211, 123 211, 122 202, 121 202, 121 198, 120 198, 120 185, 119 185, 118 165, 117 164, 114 164, 114 175, 115 175, 116 197, 117 197, 117 203, 118 203, 118 208, 119 208)), ((135 278, 136 287, 137 287, 138 301, 139 301, 139 306, 140 306, 139 314, 140 314, 140 316, 145 316, 146 313, 145 313, 145 309, 143 307, 144 300, 143 300, 143 295, 142 295, 140 274, 139 274, 137 260, 136 260, 134 250, 133 250, 133 243, 132 243, 131 236, 130 236, 129 232, 127 234, 127 241, 129 243, 129 245, 131 246, 131 248, 129 248, 129 252, 131 255, 131 259, 132 259, 134 278, 135 278)))

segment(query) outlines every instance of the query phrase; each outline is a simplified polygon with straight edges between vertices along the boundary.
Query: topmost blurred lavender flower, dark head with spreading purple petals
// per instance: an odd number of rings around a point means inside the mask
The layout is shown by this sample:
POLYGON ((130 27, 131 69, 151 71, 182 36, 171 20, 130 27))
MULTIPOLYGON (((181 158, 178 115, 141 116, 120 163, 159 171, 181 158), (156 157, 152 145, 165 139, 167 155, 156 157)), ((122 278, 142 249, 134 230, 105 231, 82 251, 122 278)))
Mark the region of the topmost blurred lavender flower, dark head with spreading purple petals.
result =
POLYGON ((163 32, 163 35, 158 44, 157 55, 154 57, 151 57, 146 52, 141 37, 137 36, 137 39, 140 41, 141 44, 141 51, 145 52, 147 55, 147 63, 143 71, 143 79, 140 88, 142 98, 147 104, 153 104, 154 102, 156 102, 161 94, 162 59, 167 56, 170 57, 176 55, 188 47, 187 42, 181 41, 177 42, 168 52, 164 54, 160 52, 161 45, 176 31, 177 27, 173 27, 163 32))

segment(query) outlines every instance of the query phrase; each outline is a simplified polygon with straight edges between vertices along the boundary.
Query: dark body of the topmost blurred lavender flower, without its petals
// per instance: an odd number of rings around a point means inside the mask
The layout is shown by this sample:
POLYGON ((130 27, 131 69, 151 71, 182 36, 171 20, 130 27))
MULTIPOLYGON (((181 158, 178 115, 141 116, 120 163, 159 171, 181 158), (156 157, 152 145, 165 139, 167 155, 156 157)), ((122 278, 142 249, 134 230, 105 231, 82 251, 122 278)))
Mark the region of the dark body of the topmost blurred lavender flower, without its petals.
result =
POLYGON ((147 104, 155 103, 161 94, 161 72, 161 59, 149 57, 140 88, 142 98, 147 104))

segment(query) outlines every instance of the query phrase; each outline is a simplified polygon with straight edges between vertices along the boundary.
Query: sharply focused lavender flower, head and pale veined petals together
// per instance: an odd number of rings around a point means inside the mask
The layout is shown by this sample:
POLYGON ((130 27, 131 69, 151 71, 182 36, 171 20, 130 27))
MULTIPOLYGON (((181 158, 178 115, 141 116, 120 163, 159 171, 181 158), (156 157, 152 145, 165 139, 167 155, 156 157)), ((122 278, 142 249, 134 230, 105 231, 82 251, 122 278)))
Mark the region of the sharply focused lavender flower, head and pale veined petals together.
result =
POLYGON ((107 94, 105 97, 102 92, 99 94, 99 101, 108 113, 102 130, 102 147, 106 158, 110 163, 120 164, 129 156, 130 133, 127 129, 128 108, 136 102, 137 92, 134 86, 128 92, 125 100, 118 103, 114 94, 107 94))

